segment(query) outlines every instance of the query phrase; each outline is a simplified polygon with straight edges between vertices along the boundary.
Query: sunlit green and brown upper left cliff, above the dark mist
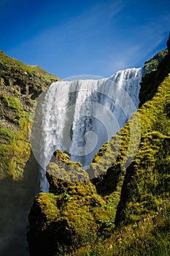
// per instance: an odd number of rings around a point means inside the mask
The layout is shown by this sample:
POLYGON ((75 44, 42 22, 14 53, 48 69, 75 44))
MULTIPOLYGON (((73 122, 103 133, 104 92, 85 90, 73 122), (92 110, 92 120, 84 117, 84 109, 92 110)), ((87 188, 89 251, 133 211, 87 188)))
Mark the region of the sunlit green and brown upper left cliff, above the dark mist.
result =
POLYGON ((27 66, 0 51, 1 154, 0 180, 23 178, 23 169, 31 155, 28 129, 35 97, 59 80, 40 67, 27 66))

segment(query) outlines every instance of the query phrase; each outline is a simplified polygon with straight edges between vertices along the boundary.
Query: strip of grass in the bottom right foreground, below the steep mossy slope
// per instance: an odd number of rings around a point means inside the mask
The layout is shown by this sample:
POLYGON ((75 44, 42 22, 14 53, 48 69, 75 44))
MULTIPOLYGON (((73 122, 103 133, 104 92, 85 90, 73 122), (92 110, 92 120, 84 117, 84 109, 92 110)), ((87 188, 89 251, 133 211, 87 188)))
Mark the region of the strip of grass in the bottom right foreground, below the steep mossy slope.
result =
MULTIPOLYGON (((168 256, 169 241, 169 211, 166 203, 155 215, 147 215, 142 221, 125 225, 112 233, 110 238, 98 238, 95 244, 87 243, 80 249, 70 250, 64 256, 117 256, 117 255, 149 255, 168 256)), ((62 254, 61 254, 62 255, 62 254)))

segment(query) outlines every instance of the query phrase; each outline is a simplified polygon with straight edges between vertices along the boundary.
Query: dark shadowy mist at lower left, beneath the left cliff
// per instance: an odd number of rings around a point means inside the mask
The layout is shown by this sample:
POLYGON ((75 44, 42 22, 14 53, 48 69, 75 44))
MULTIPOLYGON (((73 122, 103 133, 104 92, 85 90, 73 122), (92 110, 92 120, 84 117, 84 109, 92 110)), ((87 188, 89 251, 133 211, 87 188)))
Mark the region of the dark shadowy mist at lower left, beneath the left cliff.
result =
POLYGON ((28 256, 28 213, 39 192, 39 165, 31 154, 22 181, 0 181, 0 255, 28 256))

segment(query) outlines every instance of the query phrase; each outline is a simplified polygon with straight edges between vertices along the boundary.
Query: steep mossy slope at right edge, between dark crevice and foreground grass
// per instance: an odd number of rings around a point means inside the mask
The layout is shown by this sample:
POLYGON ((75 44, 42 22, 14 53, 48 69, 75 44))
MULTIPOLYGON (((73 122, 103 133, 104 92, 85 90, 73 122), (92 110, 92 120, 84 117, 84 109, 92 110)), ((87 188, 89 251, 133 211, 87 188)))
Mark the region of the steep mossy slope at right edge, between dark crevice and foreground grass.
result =
POLYGON ((169 82, 170 75, 152 101, 139 109, 142 139, 134 162, 126 170, 116 222, 136 222, 155 214, 169 197, 170 120, 165 113, 170 99, 169 82))

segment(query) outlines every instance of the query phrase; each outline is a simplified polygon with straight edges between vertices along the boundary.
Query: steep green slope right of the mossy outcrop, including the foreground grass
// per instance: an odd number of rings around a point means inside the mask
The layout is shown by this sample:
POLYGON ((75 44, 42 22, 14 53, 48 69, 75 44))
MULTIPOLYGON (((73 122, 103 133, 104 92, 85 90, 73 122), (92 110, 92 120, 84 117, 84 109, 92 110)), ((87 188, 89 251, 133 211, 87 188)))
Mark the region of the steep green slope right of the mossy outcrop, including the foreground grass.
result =
MULTIPOLYGON (((93 180, 109 209, 113 212, 117 206, 116 216, 112 216, 117 228, 109 239, 98 238, 98 243, 87 244, 65 255, 169 255, 169 73, 170 58, 166 56, 158 71, 144 80, 142 86, 145 89, 155 86, 158 91, 137 112, 142 138, 136 157, 125 172, 120 170, 120 164, 128 146, 129 124, 101 148, 93 161, 90 171, 104 172, 110 158, 114 157, 111 148, 121 140, 117 161, 107 170, 109 175, 93 180), (151 85, 150 80, 156 83, 151 85), (119 140, 120 134, 122 138, 119 140)), ((135 124, 135 116, 130 123, 135 124)))

